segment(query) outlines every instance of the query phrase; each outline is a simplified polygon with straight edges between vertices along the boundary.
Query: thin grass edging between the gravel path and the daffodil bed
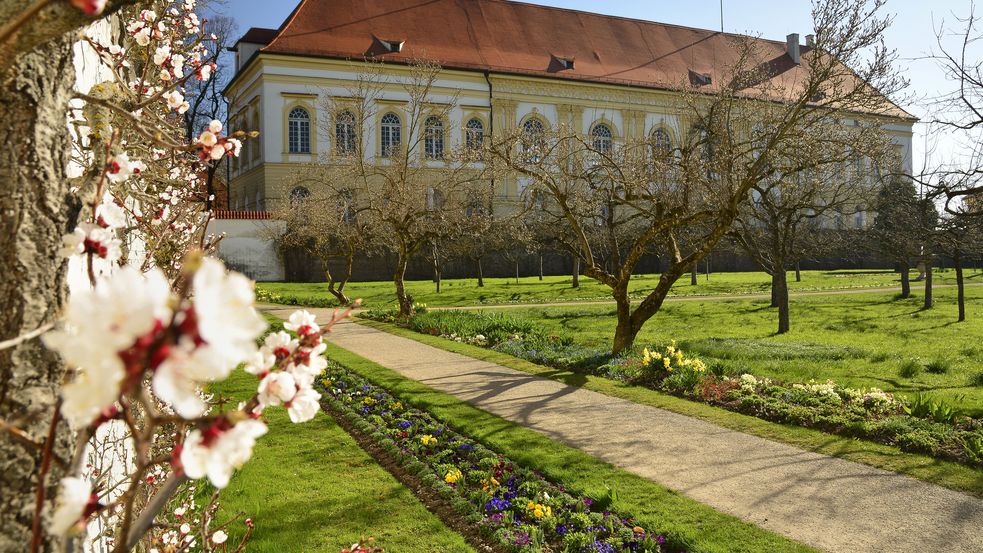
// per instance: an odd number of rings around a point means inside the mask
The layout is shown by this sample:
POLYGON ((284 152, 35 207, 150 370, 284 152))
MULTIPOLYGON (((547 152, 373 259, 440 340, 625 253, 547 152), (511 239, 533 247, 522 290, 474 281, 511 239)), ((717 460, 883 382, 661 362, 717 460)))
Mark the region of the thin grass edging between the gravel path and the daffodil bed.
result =
POLYGON ((571 386, 582 387, 642 405, 659 407, 732 430, 788 443, 815 453, 864 463, 983 497, 983 473, 959 463, 934 459, 926 455, 906 453, 896 447, 834 436, 818 430, 776 424, 607 378, 543 367, 497 351, 453 342, 437 336, 418 334, 391 324, 365 320, 359 320, 359 323, 475 359, 496 363, 544 378, 551 378, 571 386))

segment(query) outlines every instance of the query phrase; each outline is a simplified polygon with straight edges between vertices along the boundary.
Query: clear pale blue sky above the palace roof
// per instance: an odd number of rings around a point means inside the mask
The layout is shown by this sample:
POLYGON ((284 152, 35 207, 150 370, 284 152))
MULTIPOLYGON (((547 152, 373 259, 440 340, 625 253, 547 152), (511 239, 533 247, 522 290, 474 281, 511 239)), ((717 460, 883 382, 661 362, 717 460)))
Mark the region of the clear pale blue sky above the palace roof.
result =
MULTIPOLYGON (((704 29, 720 28, 719 0, 532 0, 531 3, 704 29)), ((238 20, 241 31, 245 31, 249 27, 278 27, 296 5, 293 0, 229 0, 228 11, 238 20)), ((808 0, 724 0, 724 29, 773 40, 783 40, 789 33, 805 36, 812 27, 810 7, 808 0)), ((911 81, 908 93, 915 101, 905 102, 905 107, 915 115, 927 115, 918 98, 934 96, 946 86, 933 62, 917 58, 937 49, 933 29, 943 19, 956 23, 953 13, 964 16, 969 7, 970 0, 888 0, 887 12, 895 14, 895 21, 887 33, 887 45, 898 51, 899 67, 911 81)), ((919 134, 923 135, 924 131, 919 134)), ((916 137, 916 171, 920 168, 923 142, 923 136, 916 137)), ((950 157, 952 148, 949 142, 940 144, 935 157, 950 157)))

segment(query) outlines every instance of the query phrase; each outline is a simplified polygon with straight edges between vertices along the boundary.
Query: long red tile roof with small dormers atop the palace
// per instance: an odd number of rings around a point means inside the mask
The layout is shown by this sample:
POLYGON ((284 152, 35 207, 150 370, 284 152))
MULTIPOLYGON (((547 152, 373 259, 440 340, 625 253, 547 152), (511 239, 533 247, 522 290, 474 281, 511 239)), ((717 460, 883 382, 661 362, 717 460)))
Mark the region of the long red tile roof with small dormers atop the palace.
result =
MULTIPOLYGON (((705 74, 711 89, 736 61, 736 36, 508 0, 302 0, 262 52, 425 58, 450 69, 663 89, 705 74), (405 47, 386 53, 380 40, 405 47)), ((777 84, 801 82, 805 68, 792 62, 785 42, 757 42, 777 84)))

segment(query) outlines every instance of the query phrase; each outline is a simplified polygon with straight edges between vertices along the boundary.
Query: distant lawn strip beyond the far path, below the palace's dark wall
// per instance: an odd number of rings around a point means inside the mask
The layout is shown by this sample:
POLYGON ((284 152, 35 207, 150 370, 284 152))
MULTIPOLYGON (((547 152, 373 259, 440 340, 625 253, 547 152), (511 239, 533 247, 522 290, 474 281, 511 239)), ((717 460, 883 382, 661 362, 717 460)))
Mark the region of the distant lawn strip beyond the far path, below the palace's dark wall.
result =
MULTIPOLYGON (((917 276, 913 273, 912 278, 917 276)), ((967 270, 969 282, 983 282, 983 273, 967 270)), ((637 275, 634 277, 632 294, 644 294, 658 282, 659 275, 637 275)), ((937 284, 955 283, 954 271, 937 271, 937 284)), ((417 302, 429 306, 466 306, 507 303, 548 303, 560 301, 608 300, 611 294, 607 287, 583 277, 580 288, 570 287, 570 277, 553 276, 540 281, 537 277, 515 279, 487 278, 485 287, 478 288, 474 279, 444 280, 442 291, 437 294, 434 284, 429 280, 407 282, 407 290, 417 302)), ((792 292, 821 290, 842 290, 857 288, 886 288, 900 286, 900 277, 892 271, 804 271, 802 282, 795 282, 790 273, 789 287, 792 292)), ((918 290, 921 283, 912 282, 918 290)), ((298 298, 333 298, 324 283, 283 283, 260 282, 260 291, 295 296, 298 298)), ((694 295, 735 295, 767 294, 771 290, 771 279, 760 272, 715 273, 700 275, 699 284, 692 286, 689 277, 680 279, 673 288, 675 296, 694 295)), ((351 282, 346 288, 351 298, 362 298, 367 307, 395 305, 394 289, 391 281, 351 282)))

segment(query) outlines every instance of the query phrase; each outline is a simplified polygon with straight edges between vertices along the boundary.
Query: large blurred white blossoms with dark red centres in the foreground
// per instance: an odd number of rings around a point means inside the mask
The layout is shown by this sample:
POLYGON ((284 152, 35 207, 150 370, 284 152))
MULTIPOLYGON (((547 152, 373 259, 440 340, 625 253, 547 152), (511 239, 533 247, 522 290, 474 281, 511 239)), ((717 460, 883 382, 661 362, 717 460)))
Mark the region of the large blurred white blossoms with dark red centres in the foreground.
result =
MULTIPOLYGON (((172 291, 161 271, 143 274, 132 267, 73 294, 65 327, 45 336, 76 367, 62 389, 62 416, 76 429, 98 427, 118 417, 121 401, 138 396, 149 381, 155 398, 196 424, 175 451, 175 470, 225 487, 266 433, 259 420, 265 408, 282 405, 298 423, 314 417, 321 397, 314 380, 327 366, 322 330, 306 311, 284 324, 297 338, 280 331, 257 347, 266 323, 254 299, 249 279, 211 258, 201 260, 186 294, 172 291), (207 416, 203 387, 241 363, 260 378, 255 400, 248 408, 207 416)), ((66 478, 51 529, 78 528, 98 507, 87 481, 66 478)))

